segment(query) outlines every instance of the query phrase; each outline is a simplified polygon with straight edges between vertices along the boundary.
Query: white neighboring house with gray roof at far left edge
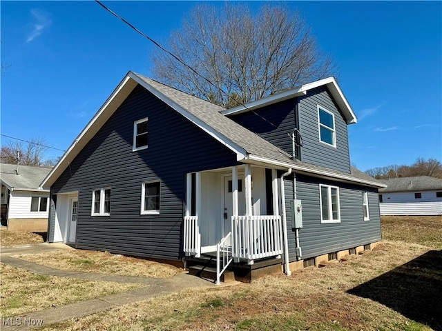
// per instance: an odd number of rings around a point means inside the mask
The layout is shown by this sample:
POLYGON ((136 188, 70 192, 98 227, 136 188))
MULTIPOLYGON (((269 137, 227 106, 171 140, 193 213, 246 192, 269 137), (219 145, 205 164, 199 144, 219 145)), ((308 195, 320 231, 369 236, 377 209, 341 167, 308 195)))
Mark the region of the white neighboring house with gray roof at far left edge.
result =
POLYGON ((8 230, 46 232, 49 190, 39 188, 51 168, 0 164, 1 225, 8 230))

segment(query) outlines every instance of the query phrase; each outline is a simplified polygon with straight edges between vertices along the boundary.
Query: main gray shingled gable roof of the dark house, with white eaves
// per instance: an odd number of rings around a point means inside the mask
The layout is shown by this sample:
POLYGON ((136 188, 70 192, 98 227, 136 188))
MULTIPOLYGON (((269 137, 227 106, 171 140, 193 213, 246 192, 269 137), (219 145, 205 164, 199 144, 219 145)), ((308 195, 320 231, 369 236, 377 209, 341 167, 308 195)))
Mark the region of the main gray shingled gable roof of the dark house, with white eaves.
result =
POLYGON ((48 177, 41 183, 42 186, 47 187, 55 182, 79 151, 86 146, 86 143, 92 139, 99 128, 111 117, 138 84, 235 152, 238 161, 271 164, 280 168, 294 168, 294 170, 299 170, 300 172, 333 177, 343 181, 356 181, 357 183, 364 183, 374 187, 383 187, 372 177, 367 178, 367 175, 361 177, 355 174, 336 172, 335 170, 293 160, 287 152, 224 116, 222 114, 225 110, 224 108, 131 71, 126 74, 126 77, 119 83, 111 97, 108 98, 63 157, 61 157, 55 168, 52 169, 48 177))

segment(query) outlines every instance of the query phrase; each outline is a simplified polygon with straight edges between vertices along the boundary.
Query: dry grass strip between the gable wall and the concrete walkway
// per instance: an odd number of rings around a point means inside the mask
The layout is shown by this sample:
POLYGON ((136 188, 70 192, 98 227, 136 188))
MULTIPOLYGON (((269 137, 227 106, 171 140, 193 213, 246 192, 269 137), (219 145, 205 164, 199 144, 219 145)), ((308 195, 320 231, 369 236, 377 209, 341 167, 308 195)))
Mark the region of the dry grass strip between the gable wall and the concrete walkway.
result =
POLYGON ((55 250, 16 255, 19 259, 60 270, 168 278, 184 270, 169 264, 93 250, 55 250))

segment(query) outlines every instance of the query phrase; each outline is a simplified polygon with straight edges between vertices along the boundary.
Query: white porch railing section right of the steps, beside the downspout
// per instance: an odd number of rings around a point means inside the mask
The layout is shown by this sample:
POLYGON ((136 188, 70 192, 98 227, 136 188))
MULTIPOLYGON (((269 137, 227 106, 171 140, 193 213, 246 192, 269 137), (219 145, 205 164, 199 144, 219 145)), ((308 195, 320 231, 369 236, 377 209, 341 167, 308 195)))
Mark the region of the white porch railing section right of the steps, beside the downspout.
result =
POLYGON ((232 216, 233 258, 262 259, 282 254, 282 222, 276 216, 232 216))

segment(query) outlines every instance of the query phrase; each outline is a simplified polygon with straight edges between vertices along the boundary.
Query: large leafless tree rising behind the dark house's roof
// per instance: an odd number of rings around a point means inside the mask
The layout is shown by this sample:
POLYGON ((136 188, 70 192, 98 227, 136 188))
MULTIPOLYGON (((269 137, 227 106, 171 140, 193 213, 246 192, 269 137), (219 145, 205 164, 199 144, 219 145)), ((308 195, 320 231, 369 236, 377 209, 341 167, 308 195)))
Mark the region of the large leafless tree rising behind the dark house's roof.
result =
POLYGON ((256 15, 242 4, 226 3, 224 10, 198 5, 171 34, 167 48, 204 78, 155 50, 155 79, 227 107, 334 71, 299 12, 282 5, 262 6, 256 15))

